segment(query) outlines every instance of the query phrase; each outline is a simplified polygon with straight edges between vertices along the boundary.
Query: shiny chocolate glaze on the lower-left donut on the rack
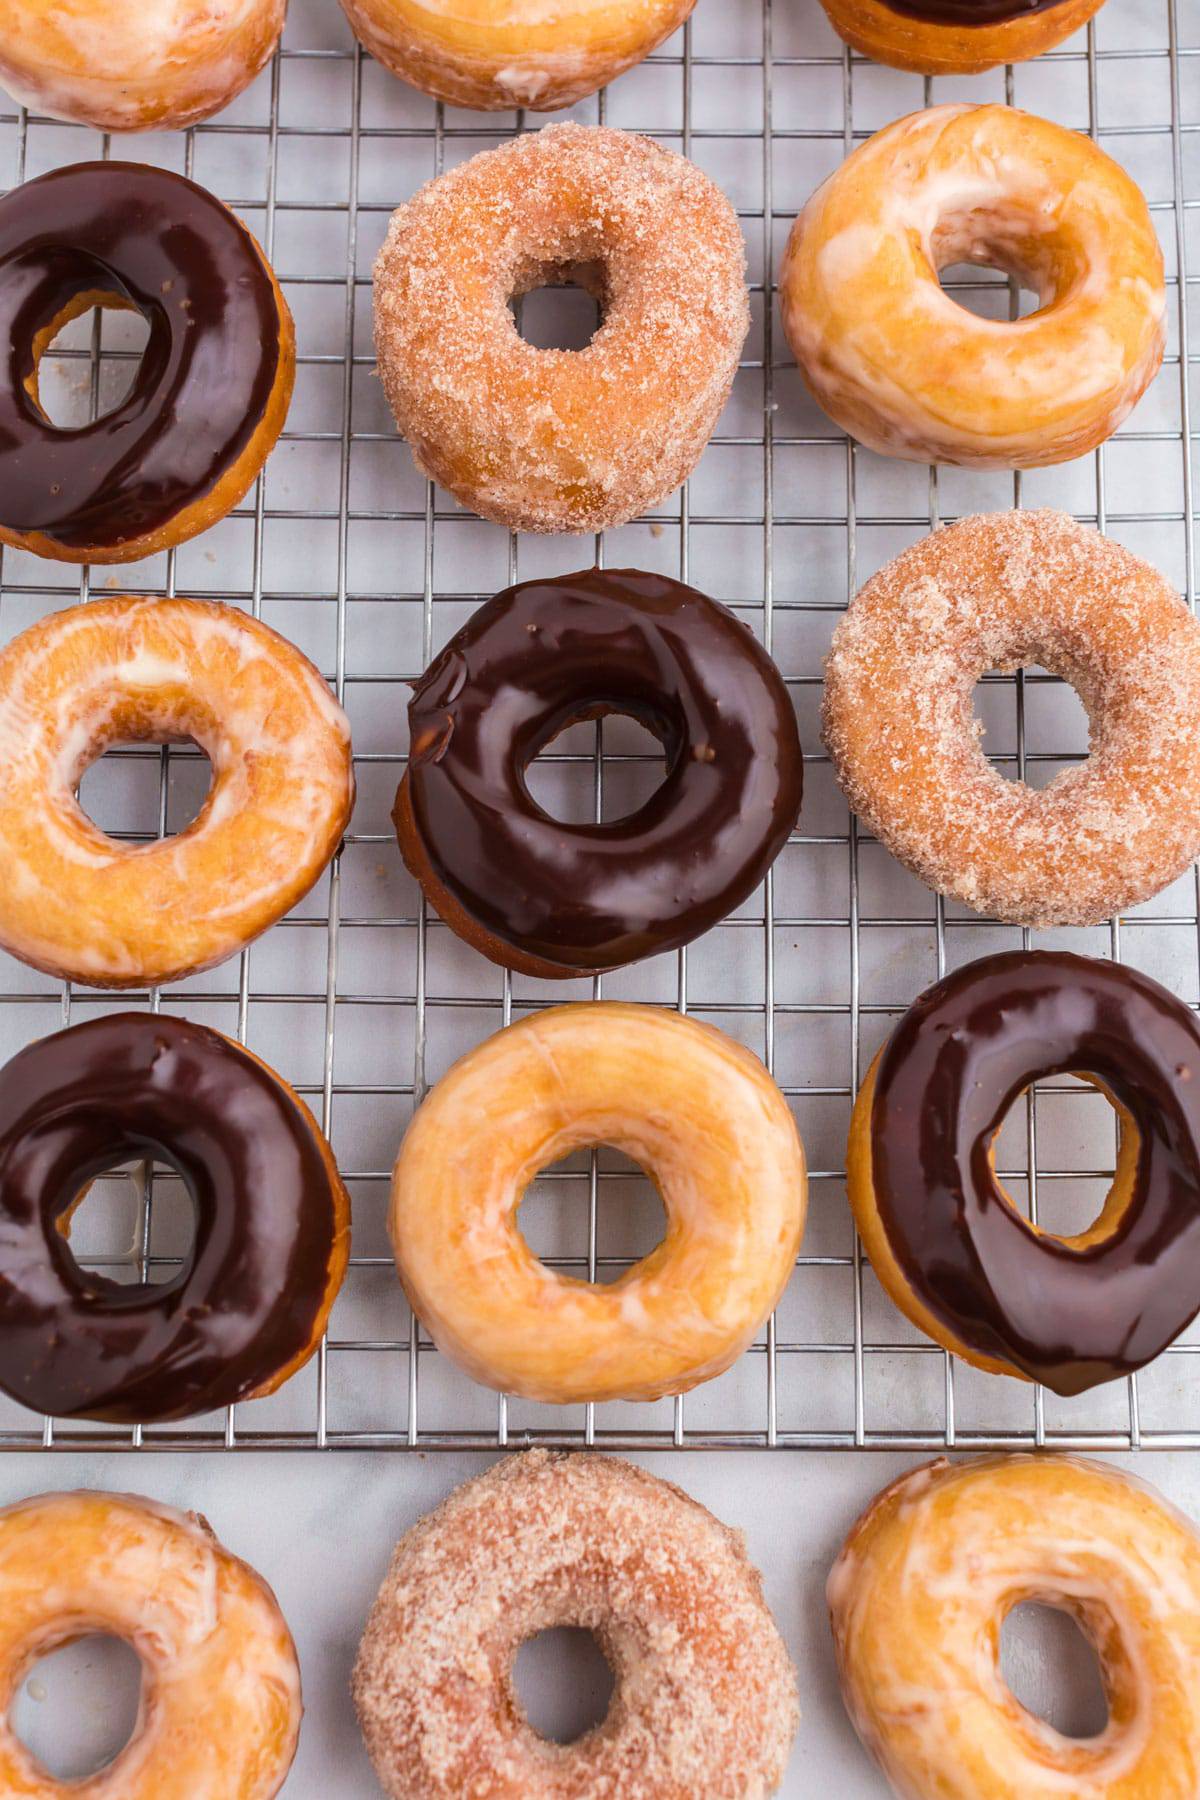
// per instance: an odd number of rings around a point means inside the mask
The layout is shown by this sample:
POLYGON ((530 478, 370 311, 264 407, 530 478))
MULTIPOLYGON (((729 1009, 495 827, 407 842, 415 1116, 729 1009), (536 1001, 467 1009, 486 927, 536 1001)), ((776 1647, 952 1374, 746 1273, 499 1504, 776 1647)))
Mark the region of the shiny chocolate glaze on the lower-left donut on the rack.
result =
POLYGON ((41 1039, 0 1080, 0 1386, 59 1418, 184 1418, 308 1346, 338 1217, 311 1125, 237 1044, 117 1013, 41 1039), (58 1220, 130 1157, 182 1175, 191 1256, 169 1282, 79 1267, 58 1220))

